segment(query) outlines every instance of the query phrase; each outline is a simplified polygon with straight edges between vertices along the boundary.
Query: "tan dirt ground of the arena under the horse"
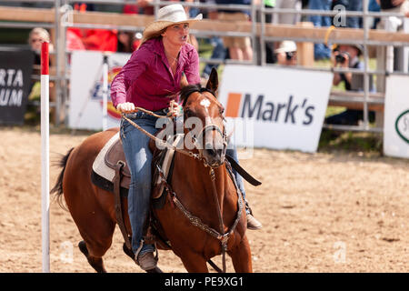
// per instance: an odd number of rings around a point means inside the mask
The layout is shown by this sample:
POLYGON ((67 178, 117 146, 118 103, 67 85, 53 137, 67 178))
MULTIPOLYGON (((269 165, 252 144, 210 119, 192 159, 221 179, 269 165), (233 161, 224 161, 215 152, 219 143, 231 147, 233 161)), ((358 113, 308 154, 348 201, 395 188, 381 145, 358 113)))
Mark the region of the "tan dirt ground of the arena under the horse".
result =
MULTIPOLYGON (((86 135, 51 135, 51 160, 86 135)), ((408 272, 409 161, 353 154, 314 155, 254 150, 241 164, 262 180, 246 184, 264 225, 248 231, 254 272, 408 272)), ((54 186, 59 169, 52 167, 54 186)), ((41 138, 0 128, 0 272, 41 272, 41 138)), ((70 214, 51 204, 52 272, 94 272, 76 247, 70 214)), ((214 259, 220 266, 220 256, 214 259)), ((105 255, 108 272, 141 272, 122 251, 122 236, 105 255)), ((161 251, 165 272, 185 272, 161 251)), ((231 261, 227 270, 233 272, 231 261)))

